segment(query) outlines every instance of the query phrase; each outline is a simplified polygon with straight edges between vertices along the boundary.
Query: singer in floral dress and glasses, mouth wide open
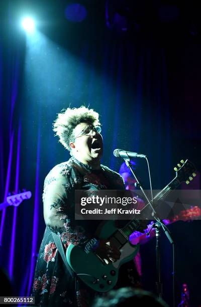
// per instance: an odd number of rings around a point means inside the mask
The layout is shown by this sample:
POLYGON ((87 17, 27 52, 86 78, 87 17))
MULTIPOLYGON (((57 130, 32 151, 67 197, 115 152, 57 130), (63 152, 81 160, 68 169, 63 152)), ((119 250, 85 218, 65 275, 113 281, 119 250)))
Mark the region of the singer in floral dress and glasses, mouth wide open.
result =
MULTIPOLYGON (((125 189, 124 181, 118 173, 100 164, 103 137, 97 112, 84 106, 67 108, 58 114, 53 127, 71 158, 56 165, 45 179, 43 205, 46 229, 36 265, 32 295, 35 296, 35 305, 89 306, 95 292, 79 279, 75 287, 52 232, 61 238, 64 251, 73 243, 86 253, 96 251, 97 255, 108 262, 118 260, 121 254, 119 249, 112 242, 108 245, 108 240, 99 240, 94 236, 100 221, 74 219, 74 191, 122 190, 125 189)), ((136 276, 133 263, 130 270, 124 270, 122 265, 118 286, 136 286, 136 276)))

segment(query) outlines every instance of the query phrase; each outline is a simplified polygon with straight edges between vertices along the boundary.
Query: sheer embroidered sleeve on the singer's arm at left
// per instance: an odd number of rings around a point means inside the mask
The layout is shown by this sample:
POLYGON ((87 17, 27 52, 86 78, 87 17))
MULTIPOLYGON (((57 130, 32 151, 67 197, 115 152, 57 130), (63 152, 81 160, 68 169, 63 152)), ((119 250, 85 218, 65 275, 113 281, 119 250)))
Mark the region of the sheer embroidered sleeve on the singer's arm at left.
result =
POLYGON ((74 223, 74 186, 76 178, 70 167, 55 167, 46 177, 43 193, 46 226, 61 237, 65 247, 70 243, 86 244, 88 238, 82 226, 74 223))

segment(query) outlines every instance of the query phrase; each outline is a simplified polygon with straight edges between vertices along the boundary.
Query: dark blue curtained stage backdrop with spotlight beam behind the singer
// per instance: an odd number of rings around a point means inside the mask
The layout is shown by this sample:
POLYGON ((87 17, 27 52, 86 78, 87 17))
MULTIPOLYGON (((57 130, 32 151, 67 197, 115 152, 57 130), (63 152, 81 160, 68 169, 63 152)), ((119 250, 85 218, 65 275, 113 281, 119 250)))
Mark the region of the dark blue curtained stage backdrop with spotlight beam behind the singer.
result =
MULTIPOLYGON (((16 295, 28 295, 32 284, 45 228, 44 178, 69 159, 52 131, 61 109, 94 108, 103 124, 102 163, 119 171, 122 160, 113 156, 115 148, 146 154, 154 189, 172 180, 181 159, 200 170, 201 26, 196 2, 82 0, 87 12, 82 22, 66 18, 72 3, 77 2, 0 4, 0 202, 9 191, 32 191, 31 200, 15 211, 7 209, 2 226, 1 265, 9 271, 16 295), (36 20, 32 35, 20 27, 24 15, 36 20)), ((75 13, 69 13, 71 18, 75 13)), ((148 189, 145 162, 137 164, 148 189)), ((198 176, 191 189, 200 189, 198 176)), ((176 302, 187 282, 193 306, 201 303, 199 227, 200 221, 169 226, 176 243, 176 302)), ((141 247, 144 285, 150 290, 154 242, 141 247)), ((172 253, 163 235, 161 253, 164 298, 171 305, 172 253)))

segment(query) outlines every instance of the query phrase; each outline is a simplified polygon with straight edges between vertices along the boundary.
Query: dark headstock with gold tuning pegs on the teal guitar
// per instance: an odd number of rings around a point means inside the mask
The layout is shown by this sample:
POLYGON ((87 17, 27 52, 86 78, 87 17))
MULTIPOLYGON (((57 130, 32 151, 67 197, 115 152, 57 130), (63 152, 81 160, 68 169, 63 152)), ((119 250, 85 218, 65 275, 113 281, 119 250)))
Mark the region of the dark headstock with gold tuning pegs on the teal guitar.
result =
POLYGON ((193 177, 196 176, 196 169, 189 160, 185 162, 181 160, 180 163, 177 164, 177 167, 174 168, 174 171, 176 172, 177 180, 180 183, 185 181, 187 185, 193 180, 193 177))

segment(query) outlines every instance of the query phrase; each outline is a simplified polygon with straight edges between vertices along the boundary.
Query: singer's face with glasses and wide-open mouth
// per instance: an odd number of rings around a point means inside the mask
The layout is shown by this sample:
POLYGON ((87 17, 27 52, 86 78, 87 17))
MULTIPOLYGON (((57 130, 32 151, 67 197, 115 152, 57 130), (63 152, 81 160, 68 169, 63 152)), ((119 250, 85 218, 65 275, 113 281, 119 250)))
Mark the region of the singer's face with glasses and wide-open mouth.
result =
POLYGON ((92 129, 93 126, 85 122, 79 123, 73 131, 75 136, 74 149, 76 157, 83 163, 99 160, 103 155, 103 137, 100 133, 92 129), (90 130, 91 127, 91 130, 90 130), (89 131, 86 132, 84 131, 89 131))

